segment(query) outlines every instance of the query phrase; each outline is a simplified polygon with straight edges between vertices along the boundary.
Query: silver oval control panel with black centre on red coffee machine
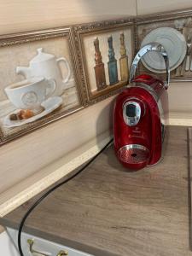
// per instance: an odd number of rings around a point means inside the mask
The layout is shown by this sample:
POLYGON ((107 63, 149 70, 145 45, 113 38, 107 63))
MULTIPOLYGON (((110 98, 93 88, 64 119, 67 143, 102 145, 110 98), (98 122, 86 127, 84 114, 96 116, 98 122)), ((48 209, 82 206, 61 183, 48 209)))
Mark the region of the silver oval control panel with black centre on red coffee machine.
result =
POLYGON ((125 102, 123 117, 126 125, 135 126, 141 118, 141 106, 138 102, 125 102))

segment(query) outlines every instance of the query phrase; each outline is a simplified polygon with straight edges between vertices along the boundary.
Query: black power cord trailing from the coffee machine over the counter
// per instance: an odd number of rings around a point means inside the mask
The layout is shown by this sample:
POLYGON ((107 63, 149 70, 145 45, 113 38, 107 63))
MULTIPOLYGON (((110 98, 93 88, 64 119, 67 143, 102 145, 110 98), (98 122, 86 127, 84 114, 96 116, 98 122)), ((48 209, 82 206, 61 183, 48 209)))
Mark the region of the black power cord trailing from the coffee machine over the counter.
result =
POLYGON ((49 189, 46 193, 44 193, 44 195, 42 195, 37 201, 35 201, 35 203, 32 205, 32 207, 29 208, 29 210, 26 212, 26 214, 24 215, 24 217, 21 219, 20 221, 20 226, 19 226, 19 233, 18 233, 18 248, 19 248, 19 252, 20 252, 20 256, 25 256, 23 254, 22 251, 22 247, 21 247, 21 233, 24 227, 24 224, 26 222, 26 218, 28 218, 28 216, 30 215, 30 213, 34 210, 35 207, 38 206, 38 204, 44 200, 45 197, 47 197, 51 192, 53 192, 55 189, 58 189, 59 187, 61 187, 61 185, 69 182, 71 179, 73 179, 73 177, 76 177, 79 175, 80 172, 83 172, 84 169, 88 166, 90 166, 90 164, 96 160, 97 156, 99 156, 99 154, 101 154, 106 148, 108 148, 108 146, 113 142, 113 139, 111 139, 89 162, 87 162, 82 168, 80 168, 80 170, 76 173, 73 174, 73 176, 68 177, 66 180, 62 181, 61 183, 58 183, 57 185, 55 185, 55 187, 49 189))

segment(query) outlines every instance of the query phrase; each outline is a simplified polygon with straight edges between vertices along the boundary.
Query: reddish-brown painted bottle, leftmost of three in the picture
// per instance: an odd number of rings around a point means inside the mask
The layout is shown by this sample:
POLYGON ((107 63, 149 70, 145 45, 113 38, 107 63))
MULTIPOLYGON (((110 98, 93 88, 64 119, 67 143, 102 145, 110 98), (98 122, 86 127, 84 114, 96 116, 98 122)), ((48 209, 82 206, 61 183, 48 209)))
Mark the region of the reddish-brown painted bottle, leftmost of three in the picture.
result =
POLYGON ((97 87, 97 90, 102 90, 106 88, 107 84, 106 84, 104 63, 102 62, 102 54, 99 49, 98 38, 94 40, 94 46, 95 46, 95 61, 96 61, 96 66, 94 67, 95 74, 96 74, 96 87, 97 87))

